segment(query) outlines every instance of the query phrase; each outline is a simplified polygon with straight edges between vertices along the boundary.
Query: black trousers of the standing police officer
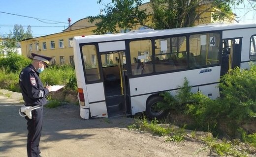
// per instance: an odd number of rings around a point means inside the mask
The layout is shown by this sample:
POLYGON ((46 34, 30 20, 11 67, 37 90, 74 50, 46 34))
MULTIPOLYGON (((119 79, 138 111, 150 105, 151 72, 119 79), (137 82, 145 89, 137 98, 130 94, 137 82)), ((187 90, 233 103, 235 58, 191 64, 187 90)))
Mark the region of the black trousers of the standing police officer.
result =
POLYGON ((27 153, 28 157, 39 157, 40 149, 39 142, 41 137, 42 125, 43 125, 43 107, 32 110, 32 119, 27 119, 28 141, 27 141, 27 153))

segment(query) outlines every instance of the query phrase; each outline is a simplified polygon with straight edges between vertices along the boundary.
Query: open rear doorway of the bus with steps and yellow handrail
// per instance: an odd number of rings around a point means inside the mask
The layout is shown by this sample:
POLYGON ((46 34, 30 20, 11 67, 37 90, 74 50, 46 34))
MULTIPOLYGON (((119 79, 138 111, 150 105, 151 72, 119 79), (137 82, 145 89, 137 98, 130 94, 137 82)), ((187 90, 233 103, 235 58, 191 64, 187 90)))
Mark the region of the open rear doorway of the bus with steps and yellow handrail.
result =
POLYGON ((126 116, 125 52, 100 54, 108 117, 126 116))

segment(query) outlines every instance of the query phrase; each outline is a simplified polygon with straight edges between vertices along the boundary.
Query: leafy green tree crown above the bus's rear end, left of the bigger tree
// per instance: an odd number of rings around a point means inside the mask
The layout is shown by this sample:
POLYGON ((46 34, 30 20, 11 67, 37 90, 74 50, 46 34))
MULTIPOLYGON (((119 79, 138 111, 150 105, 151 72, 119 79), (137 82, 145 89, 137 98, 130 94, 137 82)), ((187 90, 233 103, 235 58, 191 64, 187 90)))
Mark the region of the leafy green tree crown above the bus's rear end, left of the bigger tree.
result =
MULTIPOLYGON (((101 0, 98 0, 100 3, 101 0)), ((112 3, 105 5, 102 12, 105 15, 97 15, 89 17, 89 22, 96 20, 97 28, 93 30, 96 34, 105 34, 106 32, 119 33, 119 28, 125 30, 132 29, 133 25, 144 25, 147 17, 146 10, 140 10, 137 6, 142 4, 142 0, 112 0, 112 3)))

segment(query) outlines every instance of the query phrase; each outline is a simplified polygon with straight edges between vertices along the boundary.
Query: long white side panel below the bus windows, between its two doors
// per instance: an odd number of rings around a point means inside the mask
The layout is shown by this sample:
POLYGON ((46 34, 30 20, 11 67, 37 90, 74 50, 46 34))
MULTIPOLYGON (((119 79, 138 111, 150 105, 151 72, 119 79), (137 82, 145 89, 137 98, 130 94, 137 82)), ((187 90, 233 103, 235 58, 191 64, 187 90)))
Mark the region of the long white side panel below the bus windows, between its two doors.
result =
POLYGON ((145 93, 177 89, 179 88, 178 86, 183 86, 185 77, 189 80, 190 85, 192 86, 216 83, 220 79, 220 69, 221 66, 216 66, 139 78, 130 78, 130 96, 132 97, 145 93))

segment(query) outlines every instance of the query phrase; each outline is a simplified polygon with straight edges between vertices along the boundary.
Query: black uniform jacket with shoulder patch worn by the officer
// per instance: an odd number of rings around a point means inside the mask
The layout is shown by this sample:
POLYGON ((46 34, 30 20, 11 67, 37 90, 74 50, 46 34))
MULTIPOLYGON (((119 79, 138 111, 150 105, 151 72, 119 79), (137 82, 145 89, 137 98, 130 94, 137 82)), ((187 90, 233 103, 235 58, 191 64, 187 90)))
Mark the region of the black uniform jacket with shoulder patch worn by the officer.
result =
POLYGON ((46 104, 46 96, 49 94, 49 90, 43 87, 39 73, 36 72, 32 64, 21 71, 19 84, 26 106, 46 104))

